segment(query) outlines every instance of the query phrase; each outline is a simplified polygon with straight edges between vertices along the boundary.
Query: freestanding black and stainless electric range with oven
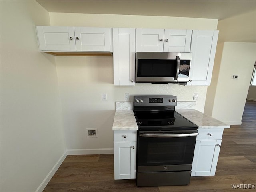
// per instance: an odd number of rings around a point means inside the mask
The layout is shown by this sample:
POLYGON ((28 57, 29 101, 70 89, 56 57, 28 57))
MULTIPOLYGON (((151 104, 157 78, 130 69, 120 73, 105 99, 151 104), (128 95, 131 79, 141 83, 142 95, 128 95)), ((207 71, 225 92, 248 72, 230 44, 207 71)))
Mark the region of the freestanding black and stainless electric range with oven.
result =
POLYGON ((175 111, 176 96, 134 96, 137 186, 187 185, 198 126, 175 111))

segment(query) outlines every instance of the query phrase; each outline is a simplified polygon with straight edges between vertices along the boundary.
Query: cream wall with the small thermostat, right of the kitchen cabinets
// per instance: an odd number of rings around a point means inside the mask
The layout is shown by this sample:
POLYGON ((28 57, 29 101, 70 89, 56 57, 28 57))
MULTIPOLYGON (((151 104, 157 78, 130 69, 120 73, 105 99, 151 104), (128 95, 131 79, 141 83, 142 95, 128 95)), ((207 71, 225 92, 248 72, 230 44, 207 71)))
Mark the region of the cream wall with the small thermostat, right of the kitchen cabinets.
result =
POLYGON ((256 43, 224 42, 220 64, 214 66, 219 70, 217 84, 207 92, 206 106, 212 108, 206 113, 227 124, 241 124, 255 59, 256 43))

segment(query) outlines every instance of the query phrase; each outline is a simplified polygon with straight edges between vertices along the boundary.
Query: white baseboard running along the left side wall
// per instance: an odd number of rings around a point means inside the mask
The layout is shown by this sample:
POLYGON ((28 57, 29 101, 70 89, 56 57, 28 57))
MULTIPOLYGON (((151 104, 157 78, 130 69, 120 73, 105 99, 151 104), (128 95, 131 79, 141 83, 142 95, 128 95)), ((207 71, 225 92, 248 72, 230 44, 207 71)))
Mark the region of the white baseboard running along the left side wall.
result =
POLYGON ((44 178, 44 180, 42 181, 42 183, 40 184, 40 186, 36 189, 36 192, 42 192, 44 190, 44 188, 46 187, 46 185, 49 183, 49 181, 51 180, 51 178, 54 176, 55 172, 58 170, 58 168, 60 167, 60 165, 62 164, 62 162, 64 161, 64 159, 67 156, 67 151, 64 152, 64 154, 62 154, 62 156, 59 158, 59 160, 56 162, 56 164, 53 166, 52 170, 50 170, 50 172, 47 174, 47 176, 44 178))

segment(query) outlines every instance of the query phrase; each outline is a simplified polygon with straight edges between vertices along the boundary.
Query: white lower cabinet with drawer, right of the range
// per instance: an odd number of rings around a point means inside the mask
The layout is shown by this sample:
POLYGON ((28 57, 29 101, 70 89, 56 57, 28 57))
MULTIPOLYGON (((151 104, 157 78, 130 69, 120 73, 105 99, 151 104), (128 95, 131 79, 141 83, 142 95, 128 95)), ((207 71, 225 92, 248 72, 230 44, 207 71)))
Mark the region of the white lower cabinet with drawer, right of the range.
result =
POLYGON ((223 129, 199 129, 198 133, 191 176, 214 176, 223 129))

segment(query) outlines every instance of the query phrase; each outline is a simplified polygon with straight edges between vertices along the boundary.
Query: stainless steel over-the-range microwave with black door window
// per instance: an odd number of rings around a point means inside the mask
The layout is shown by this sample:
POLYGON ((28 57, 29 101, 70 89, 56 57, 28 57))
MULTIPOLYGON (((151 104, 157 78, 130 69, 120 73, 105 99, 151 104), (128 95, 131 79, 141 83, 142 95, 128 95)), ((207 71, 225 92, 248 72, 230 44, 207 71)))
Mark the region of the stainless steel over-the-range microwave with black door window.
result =
POLYGON ((192 53, 136 52, 136 83, 185 83, 192 53))

